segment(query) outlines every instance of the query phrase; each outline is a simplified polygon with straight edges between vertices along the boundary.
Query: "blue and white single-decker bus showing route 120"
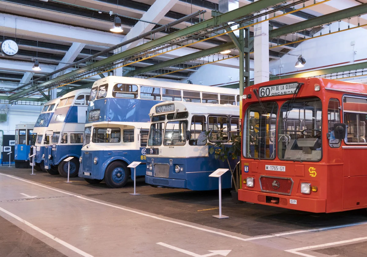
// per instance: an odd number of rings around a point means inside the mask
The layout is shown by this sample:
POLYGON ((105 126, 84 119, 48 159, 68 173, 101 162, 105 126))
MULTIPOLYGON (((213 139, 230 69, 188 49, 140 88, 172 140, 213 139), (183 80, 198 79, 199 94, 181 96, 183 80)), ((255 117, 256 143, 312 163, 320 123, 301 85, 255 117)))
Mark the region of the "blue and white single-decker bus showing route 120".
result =
MULTIPOLYGON (((166 102, 153 106, 150 116, 145 182, 155 187, 218 189, 218 178, 208 176, 219 168, 228 169, 228 163, 209 154, 205 132, 224 128, 224 140, 238 135, 239 106, 166 102)), ((230 162, 234 167, 237 161, 230 162)), ((222 175, 222 188, 231 187, 228 171, 222 175)))

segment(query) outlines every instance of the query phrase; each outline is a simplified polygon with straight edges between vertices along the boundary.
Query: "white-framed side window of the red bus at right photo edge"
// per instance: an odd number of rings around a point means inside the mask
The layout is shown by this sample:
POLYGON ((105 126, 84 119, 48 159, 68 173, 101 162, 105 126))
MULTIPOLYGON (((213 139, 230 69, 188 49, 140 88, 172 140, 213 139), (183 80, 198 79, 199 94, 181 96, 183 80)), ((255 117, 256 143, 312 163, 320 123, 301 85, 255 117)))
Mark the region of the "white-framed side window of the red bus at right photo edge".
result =
POLYGON ((366 144, 367 99, 343 97, 346 144, 366 144))

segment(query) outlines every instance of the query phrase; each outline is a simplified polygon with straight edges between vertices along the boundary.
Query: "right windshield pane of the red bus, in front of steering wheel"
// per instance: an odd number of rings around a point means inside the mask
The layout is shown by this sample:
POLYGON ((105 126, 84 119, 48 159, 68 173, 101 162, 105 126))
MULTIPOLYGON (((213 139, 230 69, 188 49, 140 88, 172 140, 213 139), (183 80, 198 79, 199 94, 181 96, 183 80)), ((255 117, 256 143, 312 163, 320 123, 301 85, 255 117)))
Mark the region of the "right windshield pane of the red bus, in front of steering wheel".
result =
POLYGON ((281 160, 321 160, 321 110, 318 98, 285 102, 280 109, 278 156, 281 160))

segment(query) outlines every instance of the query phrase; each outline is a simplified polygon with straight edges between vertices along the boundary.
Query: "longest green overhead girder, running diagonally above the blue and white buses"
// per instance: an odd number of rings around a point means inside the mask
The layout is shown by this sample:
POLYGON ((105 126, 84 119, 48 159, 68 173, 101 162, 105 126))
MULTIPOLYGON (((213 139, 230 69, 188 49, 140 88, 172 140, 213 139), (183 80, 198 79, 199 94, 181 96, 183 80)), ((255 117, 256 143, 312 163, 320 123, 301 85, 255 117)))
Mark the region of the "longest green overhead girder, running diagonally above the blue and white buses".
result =
POLYGON ((200 32, 202 30, 208 29, 208 28, 214 28, 216 26, 219 26, 219 25, 231 22, 231 21, 239 20, 243 17, 246 17, 248 14, 251 14, 251 13, 254 13, 254 12, 257 12, 257 11, 261 11, 261 10, 267 8, 267 7, 275 6, 275 5, 280 4, 282 2, 283 1, 281 1, 281 0, 259 0, 259 1, 255 1, 254 3, 248 4, 246 6, 237 8, 233 11, 229 11, 229 12, 226 12, 224 14, 218 15, 214 18, 211 18, 211 19, 208 19, 206 21, 203 21, 203 22, 197 23, 195 25, 189 26, 185 29, 181 29, 181 30, 178 30, 176 32, 170 33, 166 36, 163 36, 163 37, 157 38, 155 40, 149 41, 145 44, 141 44, 137 47, 131 48, 131 49, 129 49, 127 51, 124 51, 122 53, 115 54, 115 55, 113 55, 111 57, 108 57, 108 58, 105 58, 101 61, 94 62, 93 64, 89 64, 89 65, 87 65, 83 68, 79 68, 79 69, 73 70, 72 72, 65 73, 65 74, 63 74, 59 77, 56 77, 55 79, 51 79, 51 80, 48 80, 47 82, 44 82, 44 83, 38 84, 36 86, 32 86, 30 88, 22 90, 18 93, 15 93, 14 95, 11 95, 8 98, 8 100, 9 101, 11 101, 11 100, 14 101, 15 99, 19 98, 21 95, 24 95, 28 92, 33 92, 37 88, 45 87, 48 84, 57 83, 58 81, 61 81, 63 79, 68 79, 69 77, 76 76, 76 75, 78 75, 82 72, 86 72, 87 70, 92 70, 92 69, 101 67, 103 65, 107 65, 107 64, 110 64, 112 62, 124 59, 126 57, 133 56, 134 54, 142 53, 143 51, 147 51, 147 50, 153 49, 155 47, 162 46, 163 44, 165 44, 169 41, 172 41, 172 40, 175 40, 175 39, 178 39, 178 38, 181 38, 181 37, 185 37, 185 36, 188 36, 188 35, 192 35, 192 34, 200 32))

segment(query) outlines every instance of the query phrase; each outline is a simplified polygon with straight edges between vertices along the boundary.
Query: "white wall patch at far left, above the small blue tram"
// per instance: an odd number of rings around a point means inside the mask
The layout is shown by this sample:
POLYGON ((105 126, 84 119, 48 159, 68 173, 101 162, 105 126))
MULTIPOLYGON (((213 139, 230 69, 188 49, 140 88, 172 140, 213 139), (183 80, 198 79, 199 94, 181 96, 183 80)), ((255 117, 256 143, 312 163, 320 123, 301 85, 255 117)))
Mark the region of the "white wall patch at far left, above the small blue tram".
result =
POLYGON ((43 106, 0 104, 0 113, 7 113, 7 121, 0 122, 4 135, 15 135, 15 125, 21 122, 36 123, 43 106))

